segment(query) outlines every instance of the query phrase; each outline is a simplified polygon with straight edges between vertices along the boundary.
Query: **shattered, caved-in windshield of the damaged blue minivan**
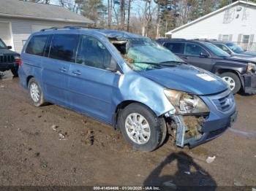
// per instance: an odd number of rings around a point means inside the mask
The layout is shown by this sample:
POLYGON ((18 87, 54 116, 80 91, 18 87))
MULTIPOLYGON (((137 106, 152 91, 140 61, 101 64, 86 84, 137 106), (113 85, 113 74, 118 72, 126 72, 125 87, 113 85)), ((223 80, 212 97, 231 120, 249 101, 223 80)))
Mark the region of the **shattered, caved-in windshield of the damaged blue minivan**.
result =
POLYGON ((184 63, 180 58, 151 39, 129 39, 125 60, 135 71, 159 69, 184 63))

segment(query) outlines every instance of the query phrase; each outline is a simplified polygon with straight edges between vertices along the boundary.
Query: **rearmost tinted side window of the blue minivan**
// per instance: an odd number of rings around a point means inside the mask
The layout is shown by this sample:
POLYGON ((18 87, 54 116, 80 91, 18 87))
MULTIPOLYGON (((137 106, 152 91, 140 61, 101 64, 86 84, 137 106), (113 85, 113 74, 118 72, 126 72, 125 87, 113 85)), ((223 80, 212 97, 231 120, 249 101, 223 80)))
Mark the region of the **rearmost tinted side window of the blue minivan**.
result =
POLYGON ((33 36, 26 47, 26 53, 31 55, 44 55, 48 36, 49 35, 33 36))

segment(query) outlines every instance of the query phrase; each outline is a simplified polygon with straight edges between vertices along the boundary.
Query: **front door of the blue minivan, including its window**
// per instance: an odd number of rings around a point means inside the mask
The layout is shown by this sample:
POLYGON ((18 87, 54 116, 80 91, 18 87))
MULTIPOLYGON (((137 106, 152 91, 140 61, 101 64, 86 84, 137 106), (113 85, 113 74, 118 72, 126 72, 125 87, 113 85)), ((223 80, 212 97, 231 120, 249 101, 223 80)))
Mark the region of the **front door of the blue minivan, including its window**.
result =
POLYGON ((75 110, 111 122, 116 61, 102 42, 80 36, 76 63, 69 70, 69 99, 75 110))

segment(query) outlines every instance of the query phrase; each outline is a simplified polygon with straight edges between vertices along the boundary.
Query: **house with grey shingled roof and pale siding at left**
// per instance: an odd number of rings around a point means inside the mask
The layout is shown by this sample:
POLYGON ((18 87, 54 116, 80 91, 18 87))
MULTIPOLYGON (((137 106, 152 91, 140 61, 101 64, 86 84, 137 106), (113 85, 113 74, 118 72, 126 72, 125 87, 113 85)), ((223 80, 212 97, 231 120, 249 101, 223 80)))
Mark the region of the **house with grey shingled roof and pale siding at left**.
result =
POLYGON ((30 34, 42 28, 87 26, 89 23, 93 21, 64 7, 0 0, 0 38, 16 52, 21 52, 30 34))

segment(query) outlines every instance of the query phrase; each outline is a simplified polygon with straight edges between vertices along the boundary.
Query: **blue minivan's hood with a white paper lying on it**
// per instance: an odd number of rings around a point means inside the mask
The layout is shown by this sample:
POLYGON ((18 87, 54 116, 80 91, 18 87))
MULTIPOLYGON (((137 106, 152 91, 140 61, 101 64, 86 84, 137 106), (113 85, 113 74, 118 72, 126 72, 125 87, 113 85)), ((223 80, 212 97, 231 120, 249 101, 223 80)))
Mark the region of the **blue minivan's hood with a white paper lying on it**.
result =
POLYGON ((227 90, 225 82, 214 74, 194 66, 180 65, 140 72, 169 89, 196 95, 208 95, 227 90))

